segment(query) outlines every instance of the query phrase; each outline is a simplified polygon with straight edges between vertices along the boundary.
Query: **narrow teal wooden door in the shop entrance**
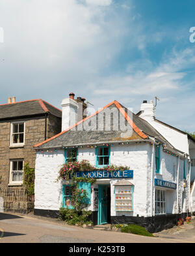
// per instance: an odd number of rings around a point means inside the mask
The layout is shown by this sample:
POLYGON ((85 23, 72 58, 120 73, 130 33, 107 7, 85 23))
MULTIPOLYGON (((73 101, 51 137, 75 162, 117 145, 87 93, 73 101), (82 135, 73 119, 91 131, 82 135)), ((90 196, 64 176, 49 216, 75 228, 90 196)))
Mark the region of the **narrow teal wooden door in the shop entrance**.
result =
POLYGON ((98 225, 107 223, 107 186, 99 185, 98 186, 98 225))

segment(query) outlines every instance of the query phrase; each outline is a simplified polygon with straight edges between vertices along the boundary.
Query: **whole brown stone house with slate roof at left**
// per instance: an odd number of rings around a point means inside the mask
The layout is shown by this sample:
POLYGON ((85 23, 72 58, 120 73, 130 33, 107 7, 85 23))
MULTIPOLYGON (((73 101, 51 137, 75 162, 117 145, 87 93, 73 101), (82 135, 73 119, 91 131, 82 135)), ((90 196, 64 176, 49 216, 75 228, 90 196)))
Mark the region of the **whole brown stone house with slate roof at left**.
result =
POLYGON ((34 202, 23 189, 23 167, 34 167, 34 143, 61 131, 62 111, 42 99, 0 105, 0 210, 29 212, 34 202))

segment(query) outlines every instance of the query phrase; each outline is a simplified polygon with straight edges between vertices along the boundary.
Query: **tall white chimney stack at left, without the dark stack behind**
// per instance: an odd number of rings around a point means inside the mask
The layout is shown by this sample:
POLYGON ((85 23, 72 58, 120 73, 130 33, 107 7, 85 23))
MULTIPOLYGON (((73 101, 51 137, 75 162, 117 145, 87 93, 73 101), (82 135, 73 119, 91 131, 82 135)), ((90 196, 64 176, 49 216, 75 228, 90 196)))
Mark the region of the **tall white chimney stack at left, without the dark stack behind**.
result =
POLYGON ((78 104, 74 99, 74 93, 69 98, 62 100, 62 131, 65 131, 77 123, 78 104))

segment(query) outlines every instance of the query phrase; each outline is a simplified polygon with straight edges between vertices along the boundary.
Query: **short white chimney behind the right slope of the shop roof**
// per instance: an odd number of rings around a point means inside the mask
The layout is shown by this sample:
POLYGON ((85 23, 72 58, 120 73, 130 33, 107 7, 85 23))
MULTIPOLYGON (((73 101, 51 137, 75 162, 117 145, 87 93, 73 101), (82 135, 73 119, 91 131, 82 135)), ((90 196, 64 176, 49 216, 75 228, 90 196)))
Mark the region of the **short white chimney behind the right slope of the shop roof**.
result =
POLYGON ((153 101, 150 101, 150 103, 143 101, 140 111, 140 118, 143 118, 146 121, 152 121, 155 118, 155 106, 153 101))

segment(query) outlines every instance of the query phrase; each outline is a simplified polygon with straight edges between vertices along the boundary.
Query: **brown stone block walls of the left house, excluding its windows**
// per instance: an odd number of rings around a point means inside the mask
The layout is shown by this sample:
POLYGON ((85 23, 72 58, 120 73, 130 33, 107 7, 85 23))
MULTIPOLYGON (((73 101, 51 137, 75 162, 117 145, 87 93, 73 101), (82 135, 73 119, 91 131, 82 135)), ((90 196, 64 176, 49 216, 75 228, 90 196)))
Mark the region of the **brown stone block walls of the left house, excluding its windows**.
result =
MULTIPOLYGON (((13 120, 13 122, 16 121, 25 121, 24 146, 10 146, 12 121, 0 122, 0 191, 2 194, 0 208, 8 211, 16 211, 18 209, 18 212, 26 212, 32 208, 32 202, 29 202, 25 194, 23 194, 24 198, 22 200, 21 197, 17 200, 14 199, 14 197, 18 198, 17 195, 20 193, 19 190, 22 189, 22 185, 10 184, 10 160, 23 159, 24 164, 29 163, 30 167, 35 167, 36 152, 34 152, 33 146, 45 140, 45 116, 13 120), (8 189, 7 195, 6 189, 8 189), (10 189, 13 189, 11 195, 10 189)), ((60 118, 51 115, 47 116, 46 139, 57 135, 60 129, 60 118)))

